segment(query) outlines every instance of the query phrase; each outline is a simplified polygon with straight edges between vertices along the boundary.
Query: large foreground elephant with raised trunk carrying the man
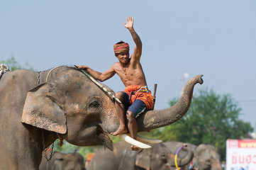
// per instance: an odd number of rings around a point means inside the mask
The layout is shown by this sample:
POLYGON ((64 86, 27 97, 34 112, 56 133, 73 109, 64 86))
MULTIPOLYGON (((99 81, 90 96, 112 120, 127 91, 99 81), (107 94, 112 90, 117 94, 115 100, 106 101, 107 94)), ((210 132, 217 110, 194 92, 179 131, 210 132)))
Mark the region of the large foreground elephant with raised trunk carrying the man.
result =
MULTIPOLYGON (((194 86, 204 82, 202 76, 189 79, 174 106, 140 115, 138 132, 182 118, 194 86)), ((4 146, 0 169, 39 169, 41 153, 58 138, 81 147, 103 145, 113 150, 108 134, 119 126, 115 101, 80 69, 60 66, 42 72, 5 72, 0 94, 0 145, 4 146)))

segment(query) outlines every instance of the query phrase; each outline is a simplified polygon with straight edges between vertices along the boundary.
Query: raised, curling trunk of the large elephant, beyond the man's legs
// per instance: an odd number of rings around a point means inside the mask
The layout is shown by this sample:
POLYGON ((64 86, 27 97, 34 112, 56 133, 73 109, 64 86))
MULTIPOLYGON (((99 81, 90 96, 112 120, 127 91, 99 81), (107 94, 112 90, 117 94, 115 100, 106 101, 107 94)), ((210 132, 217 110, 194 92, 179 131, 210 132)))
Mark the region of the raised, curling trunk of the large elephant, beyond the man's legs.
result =
POLYGON ((137 118, 138 131, 144 132, 155 128, 161 128, 181 119, 189 110, 194 86, 197 83, 204 83, 201 77, 203 77, 203 75, 198 75, 189 79, 186 86, 184 86, 182 96, 179 98, 179 101, 174 104, 174 106, 161 111, 148 111, 146 114, 139 116, 137 118))

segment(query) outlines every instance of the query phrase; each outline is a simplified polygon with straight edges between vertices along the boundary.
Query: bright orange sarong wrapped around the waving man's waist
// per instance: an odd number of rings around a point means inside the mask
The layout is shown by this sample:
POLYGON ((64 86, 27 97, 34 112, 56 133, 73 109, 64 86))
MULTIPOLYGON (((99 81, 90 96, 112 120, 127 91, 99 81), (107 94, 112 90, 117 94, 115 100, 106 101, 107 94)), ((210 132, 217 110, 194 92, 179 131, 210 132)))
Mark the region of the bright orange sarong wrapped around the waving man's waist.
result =
POLYGON ((130 96, 130 105, 136 100, 140 99, 145 103, 148 110, 152 110, 154 107, 154 100, 153 96, 148 90, 147 87, 133 85, 133 86, 126 86, 124 92, 130 96))

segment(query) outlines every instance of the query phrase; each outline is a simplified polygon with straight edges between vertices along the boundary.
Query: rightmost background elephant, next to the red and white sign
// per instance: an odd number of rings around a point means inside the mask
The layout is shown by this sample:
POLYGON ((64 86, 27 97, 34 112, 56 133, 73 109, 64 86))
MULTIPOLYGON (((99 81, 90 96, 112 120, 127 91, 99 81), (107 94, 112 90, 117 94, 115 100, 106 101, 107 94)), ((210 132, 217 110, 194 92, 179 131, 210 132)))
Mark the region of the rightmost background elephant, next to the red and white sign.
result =
MULTIPOLYGON (((176 153, 179 147, 184 145, 184 142, 168 141, 164 145, 169 148, 172 153, 176 153)), ((187 146, 194 150, 194 159, 191 169, 196 170, 222 170, 220 155, 216 152, 213 145, 201 144, 199 146, 187 144, 187 146)), ((186 154, 179 152, 178 157, 183 158, 186 154)), ((182 167, 180 170, 189 169, 189 165, 182 167)))

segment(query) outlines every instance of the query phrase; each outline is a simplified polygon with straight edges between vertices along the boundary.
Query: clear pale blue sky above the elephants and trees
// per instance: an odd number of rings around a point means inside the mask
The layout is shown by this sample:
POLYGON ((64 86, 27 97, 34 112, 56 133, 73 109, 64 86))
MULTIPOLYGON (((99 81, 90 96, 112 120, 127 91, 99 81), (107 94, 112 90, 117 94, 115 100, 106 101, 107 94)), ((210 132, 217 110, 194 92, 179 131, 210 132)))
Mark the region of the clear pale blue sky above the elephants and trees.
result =
MULTIPOLYGON (((181 93, 182 75, 204 74, 217 94, 231 94, 240 118, 256 125, 256 1, 0 1, 0 60, 13 54, 35 71, 85 64, 104 72, 116 62, 113 44, 134 43, 128 16, 143 41, 148 86, 157 83, 155 109, 181 93)), ((188 80, 186 79, 186 81, 188 80)), ((123 90, 118 76, 105 81, 123 90)))

